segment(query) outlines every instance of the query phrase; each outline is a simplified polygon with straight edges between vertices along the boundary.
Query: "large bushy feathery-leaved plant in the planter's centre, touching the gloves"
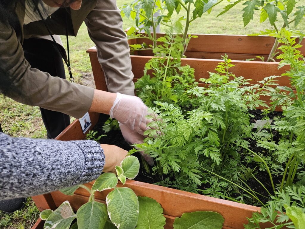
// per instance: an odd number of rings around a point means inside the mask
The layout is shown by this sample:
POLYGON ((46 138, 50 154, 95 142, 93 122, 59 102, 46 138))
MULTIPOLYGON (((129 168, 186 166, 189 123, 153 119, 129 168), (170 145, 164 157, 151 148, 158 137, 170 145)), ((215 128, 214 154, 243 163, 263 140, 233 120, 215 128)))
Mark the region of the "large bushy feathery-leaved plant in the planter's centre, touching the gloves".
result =
MULTIPOLYGON (((155 59, 153 63, 159 61, 155 59)), ((248 109, 266 107, 260 96, 274 91, 271 86, 275 84, 276 77, 267 77, 256 85, 249 85, 247 80, 229 71, 234 65, 228 56, 224 56, 223 60, 215 69, 216 73, 210 73, 208 79, 201 79, 207 87, 199 87, 194 80, 183 86, 185 90, 178 96, 182 101, 170 101, 167 97, 175 94, 175 83, 181 85, 179 81, 168 84, 167 93, 158 92, 158 89, 163 88, 155 86, 162 85, 161 77, 147 77, 138 86, 139 96, 142 93, 147 96, 142 99, 148 105, 155 100, 156 107, 152 108, 153 115, 150 118, 157 114, 158 119, 149 124, 151 129, 145 133, 149 137, 144 140, 144 144, 135 144, 137 150, 134 151, 150 154, 156 160, 153 172, 174 177, 174 180, 184 184, 182 189, 189 188, 197 192, 198 186, 204 183, 202 174, 205 169, 210 171, 211 166, 215 169, 224 163, 222 161, 229 160, 231 156, 236 157, 236 150, 240 147, 248 149, 249 142, 246 139, 252 136, 248 109), (160 96, 156 97, 158 94, 160 96)), ((154 75, 158 76, 158 73, 154 75)), ((194 79, 193 71, 189 77, 194 79)), ((240 170, 236 174, 240 178, 240 170)), ((239 178, 235 179, 236 182, 239 178)), ((217 184, 221 185, 221 182, 227 184, 225 181, 217 181, 217 184)), ((174 183, 167 182, 167 185, 174 187, 174 183)), ((232 185, 230 189, 241 188, 234 182, 228 184, 232 185)), ((224 188, 222 185, 220 187, 224 188)), ((253 191, 249 195, 259 200, 253 191)), ((222 196, 230 198, 226 193, 222 196)))

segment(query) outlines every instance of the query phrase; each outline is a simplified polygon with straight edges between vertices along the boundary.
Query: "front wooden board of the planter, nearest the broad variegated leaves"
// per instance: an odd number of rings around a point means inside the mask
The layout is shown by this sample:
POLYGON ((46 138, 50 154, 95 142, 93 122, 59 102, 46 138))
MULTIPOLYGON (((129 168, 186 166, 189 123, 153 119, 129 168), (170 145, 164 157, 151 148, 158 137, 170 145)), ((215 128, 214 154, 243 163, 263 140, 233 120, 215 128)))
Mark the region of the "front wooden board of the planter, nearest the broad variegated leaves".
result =
MULTIPOLYGON (((92 129, 99 118, 99 114, 90 113, 92 129)), ((78 120, 71 123, 59 136, 57 140, 82 140, 85 138, 81 130, 78 120)), ((91 187, 94 182, 85 184, 91 187)), ((122 187, 122 184, 118 184, 122 187)), ((131 188, 135 194, 139 196, 147 196, 154 198, 164 209, 163 214, 166 217, 166 226, 164 228, 173 228, 175 217, 180 217, 183 213, 194 211, 214 211, 220 213, 224 217, 224 229, 243 229, 243 224, 247 223, 246 217, 251 217, 253 212, 260 211, 259 207, 240 204, 227 200, 207 197, 204 195, 189 193, 185 191, 175 190, 172 188, 161 187, 153 184, 147 184, 134 180, 127 180, 124 187, 131 188)), ((95 200, 106 203, 106 195, 111 190, 95 193, 95 200)), ((68 200, 74 209, 77 209, 88 202, 89 194, 84 189, 77 189, 73 196, 67 196, 59 191, 49 194, 33 196, 35 204, 40 210, 56 209, 61 203, 68 200)), ((40 229, 44 221, 39 220, 32 229, 40 229)))

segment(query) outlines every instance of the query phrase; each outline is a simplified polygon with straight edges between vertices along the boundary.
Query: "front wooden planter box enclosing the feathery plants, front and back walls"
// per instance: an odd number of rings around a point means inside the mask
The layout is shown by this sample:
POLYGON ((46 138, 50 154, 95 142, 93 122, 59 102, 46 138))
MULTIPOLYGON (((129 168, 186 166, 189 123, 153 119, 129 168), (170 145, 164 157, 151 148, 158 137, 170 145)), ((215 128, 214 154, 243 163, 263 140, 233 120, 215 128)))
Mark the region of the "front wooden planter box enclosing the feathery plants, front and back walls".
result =
MULTIPOLYGON (((97 59, 95 47, 88 49, 90 56, 92 71, 95 80, 96 89, 107 91, 107 86, 104 78, 102 68, 97 59)), ((132 70, 135 75, 134 81, 142 77, 145 63, 151 56, 131 56, 132 70)), ((220 60, 208 59, 183 59, 183 64, 190 64, 195 67, 196 80, 199 78, 208 77, 207 71, 213 71, 220 60)), ((249 62, 236 60, 233 61, 236 66, 232 71, 237 75, 243 75, 246 78, 252 78, 252 83, 261 80, 270 75, 280 75, 284 69, 277 70, 277 63, 265 62, 249 62), (263 71, 264 70, 264 71, 263 71), (261 72, 264 72, 263 74, 261 72)), ((202 85, 202 84, 201 84, 202 85)), ((281 78, 280 85, 289 85, 288 78, 281 78)), ((99 114, 90 113, 92 129, 98 119, 99 114)), ((82 133, 81 126, 78 120, 71 123, 56 139, 57 140, 82 140, 85 134, 82 133)), ((91 187, 93 182, 86 184, 91 187)), ((121 184, 119 184, 121 186, 121 184)), ((130 187, 135 194, 139 196, 147 196, 154 198, 163 207, 164 215, 166 217, 166 229, 171 229, 175 217, 180 217, 183 213, 193 211, 215 211, 224 217, 224 229, 243 229, 243 224, 247 223, 247 217, 251 217, 253 212, 260 211, 259 207, 240 204, 227 200, 207 197, 204 195, 193 194, 185 191, 179 191, 172 188, 160 187, 153 184, 146 184, 139 181, 128 180, 125 187, 130 187)), ((95 194, 95 200, 105 203, 106 195, 111 190, 106 190, 95 194)), ((56 209, 62 202, 68 200, 74 211, 88 202, 89 194, 83 190, 78 189, 73 196, 67 196, 59 191, 49 194, 34 196, 33 200, 40 210, 56 209)), ((38 220, 32 229, 40 229, 44 224, 43 221, 38 220)), ((266 225, 267 226, 267 225, 266 225)))

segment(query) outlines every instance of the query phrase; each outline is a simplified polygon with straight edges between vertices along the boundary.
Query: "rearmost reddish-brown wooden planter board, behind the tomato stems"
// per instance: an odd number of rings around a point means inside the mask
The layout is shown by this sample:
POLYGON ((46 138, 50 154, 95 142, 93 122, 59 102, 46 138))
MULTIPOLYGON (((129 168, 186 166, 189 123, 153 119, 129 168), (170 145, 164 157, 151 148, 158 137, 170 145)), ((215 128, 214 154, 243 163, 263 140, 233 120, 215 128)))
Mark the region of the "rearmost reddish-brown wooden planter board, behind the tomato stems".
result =
MULTIPOLYGON (((127 30, 126 30, 127 31, 127 30)), ((157 38, 164 33, 157 33, 157 38)), ((219 34, 193 34, 198 38, 192 38, 188 43, 185 56, 193 59, 213 59, 220 60, 226 53, 231 60, 246 60, 263 56, 267 60, 271 52, 275 38, 269 36, 247 36, 247 35, 219 35, 219 34)), ((297 40, 298 41, 298 40, 297 40)), ((145 38, 136 38, 128 40, 128 44, 152 45, 152 41, 145 38)), ((305 41, 302 41, 302 45, 305 41)), ((280 44, 281 45, 281 44, 280 44)), ((279 46, 280 46, 279 45, 279 46)), ((299 49, 305 53, 305 47, 299 49)), ((151 50, 133 51, 135 56, 153 56, 151 50)), ((262 62, 256 58, 258 62, 262 62)), ((274 58, 279 62, 279 59, 274 58)), ((247 61, 249 62, 249 61, 247 61)), ((251 61, 253 63, 253 61, 251 61)), ((271 63, 271 62, 269 62, 271 63)))

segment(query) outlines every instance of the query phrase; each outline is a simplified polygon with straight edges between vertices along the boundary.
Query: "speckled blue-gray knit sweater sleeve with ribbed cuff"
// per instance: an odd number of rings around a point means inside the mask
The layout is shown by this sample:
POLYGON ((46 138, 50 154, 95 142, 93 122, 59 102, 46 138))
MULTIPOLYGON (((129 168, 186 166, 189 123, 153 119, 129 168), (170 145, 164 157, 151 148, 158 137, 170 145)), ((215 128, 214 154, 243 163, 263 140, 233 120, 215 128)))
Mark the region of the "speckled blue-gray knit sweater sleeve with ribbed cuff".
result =
POLYGON ((0 200, 48 193, 95 180, 105 156, 91 140, 12 138, 0 133, 0 200))

